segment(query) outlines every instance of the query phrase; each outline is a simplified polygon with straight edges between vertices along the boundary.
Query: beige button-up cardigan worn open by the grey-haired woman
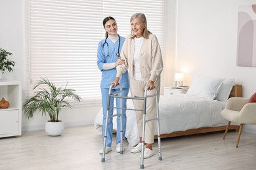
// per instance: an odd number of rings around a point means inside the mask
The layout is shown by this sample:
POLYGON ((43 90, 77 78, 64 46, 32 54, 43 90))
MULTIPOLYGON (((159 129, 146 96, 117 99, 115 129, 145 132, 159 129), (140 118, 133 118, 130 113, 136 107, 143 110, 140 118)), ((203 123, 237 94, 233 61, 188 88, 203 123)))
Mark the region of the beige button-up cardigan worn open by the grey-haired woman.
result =
MULTIPOLYGON (((128 35, 120 53, 121 58, 125 59, 125 63, 117 65, 117 77, 120 77, 127 69, 130 78, 133 77, 134 44, 135 39, 131 39, 131 35, 128 35)), ((163 59, 160 45, 155 35, 150 34, 148 39, 143 40, 139 56, 142 78, 156 82, 156 79, 160 77, 161 71, 163 70, 163 59)))

